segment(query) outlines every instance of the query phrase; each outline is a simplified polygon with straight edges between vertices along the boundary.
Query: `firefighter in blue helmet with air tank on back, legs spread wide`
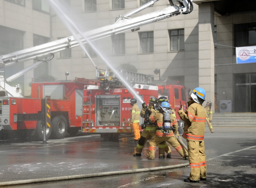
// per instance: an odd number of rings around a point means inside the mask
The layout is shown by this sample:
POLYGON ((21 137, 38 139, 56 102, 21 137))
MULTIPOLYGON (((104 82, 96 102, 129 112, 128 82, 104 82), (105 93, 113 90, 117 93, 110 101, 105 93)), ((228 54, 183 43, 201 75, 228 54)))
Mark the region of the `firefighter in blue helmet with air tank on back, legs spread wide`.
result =
POLYGON ((173 122, 173 118, 170 116, 171 111, 169 110, 169 104, 167 102, 163 102, 159 108, 160 112, 157 112, 154 116, 150 117, 150 119, 156 122, 157 128, 155 133, 156 135, 149 142, 147 159, 154 160, 156 146, 162 141, 166 141, 171 144, 171 146, 173 146, 183 158, 188 159, 188 154, 185 148, 183 148, 183 146, 181 146, 181 144, 174 137, 172 125, 173 123, 177 123, 177 121, 173 122), (169 116, 167 116, 169 120, 164 120, 164 114, 169 114, 169 116), (164 121, 169 123, 168 130, 165 128, 167 125, 165 125, 166 123, 164 123, 164 121))

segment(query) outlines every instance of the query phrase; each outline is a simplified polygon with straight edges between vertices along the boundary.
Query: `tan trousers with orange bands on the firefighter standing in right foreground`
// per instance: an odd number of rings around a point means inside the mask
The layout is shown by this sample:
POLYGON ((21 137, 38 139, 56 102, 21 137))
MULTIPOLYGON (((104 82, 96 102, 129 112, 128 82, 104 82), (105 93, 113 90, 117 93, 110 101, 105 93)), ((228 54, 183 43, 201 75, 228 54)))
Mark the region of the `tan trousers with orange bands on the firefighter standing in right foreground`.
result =
POLYGON ((191 172, 189 179, 197 181, 206 178, 206 155, 204 154, 204 141, 188 141, 189 164, 191 172))

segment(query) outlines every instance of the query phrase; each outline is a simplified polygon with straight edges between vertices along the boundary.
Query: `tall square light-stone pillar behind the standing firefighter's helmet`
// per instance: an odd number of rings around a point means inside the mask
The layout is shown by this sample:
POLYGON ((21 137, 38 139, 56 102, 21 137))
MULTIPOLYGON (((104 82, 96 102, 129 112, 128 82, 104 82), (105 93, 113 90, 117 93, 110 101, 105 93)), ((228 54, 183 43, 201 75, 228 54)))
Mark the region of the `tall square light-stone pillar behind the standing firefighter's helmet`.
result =
MULTIPOLYGON (((214 4, 198 7, 199 87, 206 91, 206 101, 212 101, 214 112, 214 4)), ((204 103, 203 105, 206 105, 204 103)))

